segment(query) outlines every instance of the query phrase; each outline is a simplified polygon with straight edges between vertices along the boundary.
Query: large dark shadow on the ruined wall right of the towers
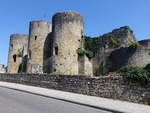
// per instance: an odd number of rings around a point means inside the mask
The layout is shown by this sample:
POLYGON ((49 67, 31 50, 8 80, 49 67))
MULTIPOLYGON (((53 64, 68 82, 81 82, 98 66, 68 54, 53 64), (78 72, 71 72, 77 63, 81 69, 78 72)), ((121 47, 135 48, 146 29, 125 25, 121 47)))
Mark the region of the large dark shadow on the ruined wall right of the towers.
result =
POLYGON ((94 58, 94 75, 99 76, 109 72, 115 72, 121 67, 130 65, 129 60, 134 57, 139 49, 121 47, 113 51, 101 50, 94 58))

